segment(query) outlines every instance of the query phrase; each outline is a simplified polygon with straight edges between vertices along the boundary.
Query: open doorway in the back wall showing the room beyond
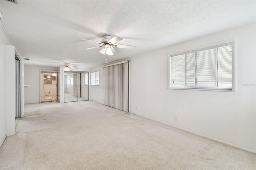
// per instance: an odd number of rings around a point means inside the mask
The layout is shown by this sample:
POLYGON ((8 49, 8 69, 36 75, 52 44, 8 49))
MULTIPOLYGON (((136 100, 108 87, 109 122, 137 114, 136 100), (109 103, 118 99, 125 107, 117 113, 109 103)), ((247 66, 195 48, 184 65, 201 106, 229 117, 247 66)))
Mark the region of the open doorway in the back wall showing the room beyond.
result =
POLYGON ((40 72, 40 103, 58 101, 58 72, 40 72))

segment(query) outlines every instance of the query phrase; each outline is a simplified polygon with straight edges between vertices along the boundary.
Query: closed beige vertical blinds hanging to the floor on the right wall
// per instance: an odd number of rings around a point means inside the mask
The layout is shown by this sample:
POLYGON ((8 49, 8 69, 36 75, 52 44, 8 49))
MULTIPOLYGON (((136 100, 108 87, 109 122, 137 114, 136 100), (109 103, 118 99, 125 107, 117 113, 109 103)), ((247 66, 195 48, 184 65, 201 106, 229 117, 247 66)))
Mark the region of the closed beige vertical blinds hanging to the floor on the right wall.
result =
POLYGON ((129 112, 129 67, 121 63, 104 67, 104 104, 129 112))

